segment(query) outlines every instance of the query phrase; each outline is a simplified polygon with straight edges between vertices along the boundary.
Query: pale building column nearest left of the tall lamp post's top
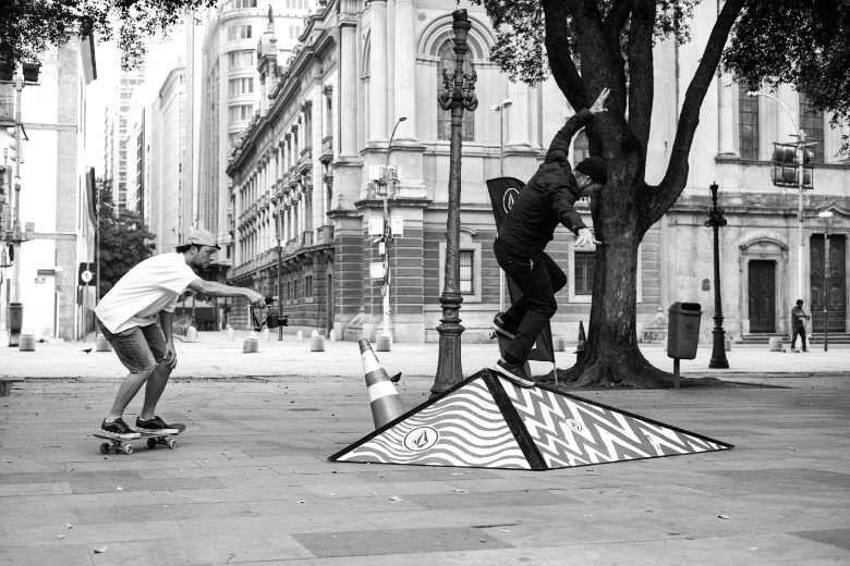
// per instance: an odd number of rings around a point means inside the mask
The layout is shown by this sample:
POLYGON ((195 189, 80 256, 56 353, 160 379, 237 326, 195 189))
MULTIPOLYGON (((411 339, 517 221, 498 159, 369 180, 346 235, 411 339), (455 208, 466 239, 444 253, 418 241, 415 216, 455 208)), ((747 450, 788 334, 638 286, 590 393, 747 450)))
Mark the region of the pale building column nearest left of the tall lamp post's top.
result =
POLYGON ((392 123, 394 125, 400 115, 406 115, 408 120, 399 124, 396 138, 411 142, 416 140, 416 53, 413 41, 413 0, 396 0, 396 115, 392 123))

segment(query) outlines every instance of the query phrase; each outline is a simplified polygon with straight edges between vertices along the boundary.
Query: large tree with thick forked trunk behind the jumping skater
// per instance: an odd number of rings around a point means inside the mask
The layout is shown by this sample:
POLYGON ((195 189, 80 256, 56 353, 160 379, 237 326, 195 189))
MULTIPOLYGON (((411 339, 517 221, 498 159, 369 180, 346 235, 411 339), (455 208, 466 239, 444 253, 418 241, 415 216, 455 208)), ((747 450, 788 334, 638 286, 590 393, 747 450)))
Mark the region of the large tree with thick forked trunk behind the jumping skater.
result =
MULTIPOLYGON (((749 88, 790 83, 836 121, 850 119, 850 3, 847 0, 726 0, 694 21, 697 0, 473 0, 497 35, 494 59, 514 81, 549 74, 574 109, 610 88, 608 112, 585 128, 591 155, 608 161, 608 183, 591 200, 596 236, 585 356, 561 378, 578 385, 669 385, 671 376, 641 354, 636 335, 638 248, 688 182, 700 111, 720 71, 749 88), (655 100, 655 50, 707 32, 680 98, 669 161, 646 182, 655 100), (690 81, 690 82, 689 82, 690 81)), ((713 3, 714 5, 714 3, 713 3)), ((683 72, 680 70, 680 72, 683 72)), ((847 142, 847 139, 845 139, 847 142)), ((847 150, 847 144, 845 144, 847 150)))

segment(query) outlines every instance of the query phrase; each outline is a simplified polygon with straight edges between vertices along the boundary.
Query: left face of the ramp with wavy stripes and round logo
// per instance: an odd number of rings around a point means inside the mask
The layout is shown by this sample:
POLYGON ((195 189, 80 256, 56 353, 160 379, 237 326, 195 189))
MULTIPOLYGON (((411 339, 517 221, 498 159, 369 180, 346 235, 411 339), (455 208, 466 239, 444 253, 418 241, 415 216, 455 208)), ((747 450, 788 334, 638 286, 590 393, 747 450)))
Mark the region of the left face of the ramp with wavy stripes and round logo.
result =
POLYGON ((481 379, 410 416, 338 459, 530 469, 501 411, 481 379), (421 429, 424 427, 429 430, 421 429), (433 431, 438 434, 436 442, 433 431), (405 438, 411 432, 413 440, 408 439, 405 446, 405 438), (418 450, 418 446, 428 447, 418 450))

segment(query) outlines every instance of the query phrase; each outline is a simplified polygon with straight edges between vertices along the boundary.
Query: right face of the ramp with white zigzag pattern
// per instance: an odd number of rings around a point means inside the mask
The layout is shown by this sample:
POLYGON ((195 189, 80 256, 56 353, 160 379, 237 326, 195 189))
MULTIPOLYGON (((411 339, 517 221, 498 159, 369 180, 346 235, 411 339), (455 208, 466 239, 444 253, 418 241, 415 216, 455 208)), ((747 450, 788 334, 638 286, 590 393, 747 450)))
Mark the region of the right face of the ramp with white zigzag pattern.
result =
POLYGON ((502 386, 551 468, 728 448, 539 387, 521 389, 506 380, 502 386))

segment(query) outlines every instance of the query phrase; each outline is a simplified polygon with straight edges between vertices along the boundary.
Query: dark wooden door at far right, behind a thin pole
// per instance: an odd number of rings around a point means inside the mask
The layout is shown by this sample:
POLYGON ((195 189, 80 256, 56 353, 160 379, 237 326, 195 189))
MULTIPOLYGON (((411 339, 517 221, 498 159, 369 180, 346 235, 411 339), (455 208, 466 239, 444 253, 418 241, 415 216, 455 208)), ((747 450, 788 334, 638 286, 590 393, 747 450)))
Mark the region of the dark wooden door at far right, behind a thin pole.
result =
POLYGON ((812 332, 824 331, 824 283, 827 290, 826 300, 829 303, 829 332, 847 332, 846 242, 843 237, 831 236, 828 261, 825 261, 827 257, 824 254, 824 235, 812 236, 809 247, 811 249, 812 332), (827 272, 826 282, 824 271, 827 272))

